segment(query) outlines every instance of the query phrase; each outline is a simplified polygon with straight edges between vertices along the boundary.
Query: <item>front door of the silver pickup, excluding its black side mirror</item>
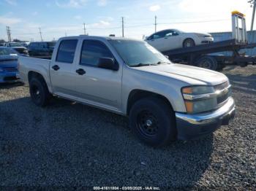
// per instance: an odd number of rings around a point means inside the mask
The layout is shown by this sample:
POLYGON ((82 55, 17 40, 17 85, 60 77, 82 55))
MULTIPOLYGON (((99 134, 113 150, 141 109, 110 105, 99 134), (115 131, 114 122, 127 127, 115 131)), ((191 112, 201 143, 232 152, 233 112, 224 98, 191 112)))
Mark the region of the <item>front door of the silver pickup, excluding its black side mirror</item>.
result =
POLYGON ((75 75, 74 92, 89 104, 117 111, 121 105, 121 66, 118 71, 99 68, 99 58, 113 58, 116 61, 105 42, 83 40, 75 71, 84 71, 84 74, 78 72, 75 75))

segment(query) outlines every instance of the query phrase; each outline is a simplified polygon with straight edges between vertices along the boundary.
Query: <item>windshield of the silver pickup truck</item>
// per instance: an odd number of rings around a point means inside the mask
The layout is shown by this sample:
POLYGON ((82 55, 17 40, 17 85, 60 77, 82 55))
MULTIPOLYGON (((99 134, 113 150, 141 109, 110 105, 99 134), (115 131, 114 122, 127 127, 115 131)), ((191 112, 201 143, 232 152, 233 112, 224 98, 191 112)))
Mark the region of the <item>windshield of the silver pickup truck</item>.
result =
POLYGON ((146 42, 136 40, 110 40, 124 62, 131 67, 170 63, 162 53, 146 42))

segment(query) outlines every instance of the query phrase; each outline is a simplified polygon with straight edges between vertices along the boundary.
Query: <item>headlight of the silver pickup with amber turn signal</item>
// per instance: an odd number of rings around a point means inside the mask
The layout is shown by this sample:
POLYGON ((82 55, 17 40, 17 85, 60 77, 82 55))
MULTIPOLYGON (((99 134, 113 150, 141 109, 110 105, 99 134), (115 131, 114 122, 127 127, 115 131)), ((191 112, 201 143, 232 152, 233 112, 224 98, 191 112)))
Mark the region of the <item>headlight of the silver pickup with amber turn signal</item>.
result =
POLYGON ((212 86, 191 86, 181 89, 187 112, 207 112, 217 107, 217 96, 212 86))

